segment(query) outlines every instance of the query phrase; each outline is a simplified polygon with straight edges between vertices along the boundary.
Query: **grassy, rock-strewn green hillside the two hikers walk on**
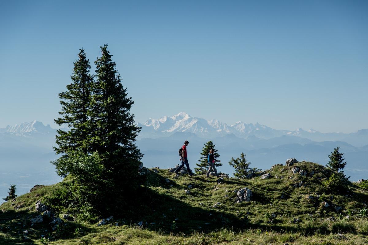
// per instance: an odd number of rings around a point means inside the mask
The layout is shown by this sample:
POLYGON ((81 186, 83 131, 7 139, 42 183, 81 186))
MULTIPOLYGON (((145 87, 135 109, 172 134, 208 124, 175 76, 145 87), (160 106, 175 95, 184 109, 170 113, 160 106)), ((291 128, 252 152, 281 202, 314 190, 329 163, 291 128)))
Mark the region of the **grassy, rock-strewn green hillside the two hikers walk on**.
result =
POLYGON ((71 210, 48 203, 61 183, 39 187, 0 206, 0 244, 368 244, 368 191, 352 184, 346 193, 324 193, 328 169, 294 166, 273 167, 269 179, 220 181, 148 169, 130 211, 102 226, 74 214, 77 221, 64 220, 56 230, 47 218, 33 226, 31 219, 40 215, 38 200, 59 217, 71 210), (292 173, 294 166, 306 176, 292 173), (237 203, 245 187, 252 201, 237 203))

